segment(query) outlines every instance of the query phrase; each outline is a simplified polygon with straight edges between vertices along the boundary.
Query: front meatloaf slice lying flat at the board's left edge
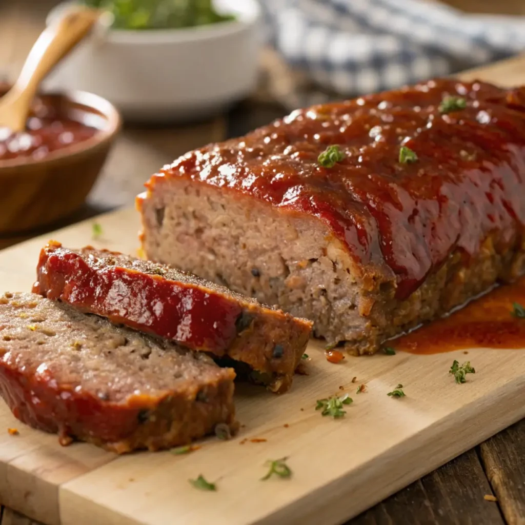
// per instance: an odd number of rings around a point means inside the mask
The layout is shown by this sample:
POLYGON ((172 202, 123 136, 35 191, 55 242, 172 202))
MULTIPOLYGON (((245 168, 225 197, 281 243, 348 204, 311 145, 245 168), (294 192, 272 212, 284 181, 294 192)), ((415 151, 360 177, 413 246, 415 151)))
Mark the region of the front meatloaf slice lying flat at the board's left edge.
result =
POLYGON ((119 454, 235 427, 235 373, 33 293, 0 296, 0 394, 28 425, 119 454))

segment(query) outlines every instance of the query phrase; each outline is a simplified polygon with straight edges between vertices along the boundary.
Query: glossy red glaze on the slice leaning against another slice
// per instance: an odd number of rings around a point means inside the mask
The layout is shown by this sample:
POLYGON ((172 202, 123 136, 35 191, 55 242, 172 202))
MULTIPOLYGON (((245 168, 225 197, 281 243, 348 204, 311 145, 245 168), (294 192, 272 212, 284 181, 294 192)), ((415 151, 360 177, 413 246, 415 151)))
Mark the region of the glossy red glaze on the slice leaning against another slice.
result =
POLYGON ((82 257, 60 243, 41 250, 33 291, 219 356, 235 339, 242 311, 212 290, 118 264, 101 267, 96 257, 82 257))

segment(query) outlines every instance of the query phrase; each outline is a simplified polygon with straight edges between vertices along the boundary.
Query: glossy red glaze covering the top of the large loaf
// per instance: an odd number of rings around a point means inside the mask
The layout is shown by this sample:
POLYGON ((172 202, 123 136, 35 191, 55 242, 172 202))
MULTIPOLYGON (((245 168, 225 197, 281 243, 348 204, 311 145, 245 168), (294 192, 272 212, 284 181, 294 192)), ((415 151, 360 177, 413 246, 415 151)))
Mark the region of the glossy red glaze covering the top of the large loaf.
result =
POLYGON ((451 251, 504 245, 525 220, 525 89, 453 79, 297 110, 241 139, 182 156, 154 175, 242 192, 316 216, 364 271, 395 276, 406 298, 451 251), (445 96, 467 107, 440 113, 445 96), (339 144, 328 169, 318 155, 339 144), (418 161, 398 162, 401 145, 418 161))

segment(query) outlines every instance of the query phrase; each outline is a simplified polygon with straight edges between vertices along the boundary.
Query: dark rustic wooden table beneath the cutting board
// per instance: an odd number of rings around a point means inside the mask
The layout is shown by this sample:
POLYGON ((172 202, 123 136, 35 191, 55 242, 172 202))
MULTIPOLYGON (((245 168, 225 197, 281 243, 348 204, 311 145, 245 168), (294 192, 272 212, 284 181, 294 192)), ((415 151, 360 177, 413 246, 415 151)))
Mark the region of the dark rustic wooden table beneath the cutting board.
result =
MULTIPOLYGON (((16 76, 54 3, 53 0, 7 0, 0 5, 0 77, 16 76)), ((482 8, 487 12, 525 14, 523 0, 450 0, 450 3, 468 10, 482 8)), ((245 102, 225 115, 182 127, 127 125, 86 206, 67 223, 129 205, 133 196, 141 191, 145 178, 177 155, 206 142, 242 134, 281 113, 276 104, 245 102)), ((42 232, 0 238, 0 247, 37 233, 42 232)), ((524 489, 525 420, 451 460, 349 524, 521 525, 525 524, 524 489)), ((0 525, 31 523, 35 522, 0 507, 0 525)))

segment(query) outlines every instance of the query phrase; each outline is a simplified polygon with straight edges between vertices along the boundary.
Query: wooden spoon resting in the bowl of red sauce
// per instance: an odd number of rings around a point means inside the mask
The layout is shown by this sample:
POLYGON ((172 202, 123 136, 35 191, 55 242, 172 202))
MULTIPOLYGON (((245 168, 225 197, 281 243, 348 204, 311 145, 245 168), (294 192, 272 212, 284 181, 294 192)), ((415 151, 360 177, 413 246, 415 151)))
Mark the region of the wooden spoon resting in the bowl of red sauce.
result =
POLYGON ((40 82, 88 33, 100 10, 75 7, 47 27, 29 52, 15 85, 0 99, 0 128, 24 131, 40 82))

